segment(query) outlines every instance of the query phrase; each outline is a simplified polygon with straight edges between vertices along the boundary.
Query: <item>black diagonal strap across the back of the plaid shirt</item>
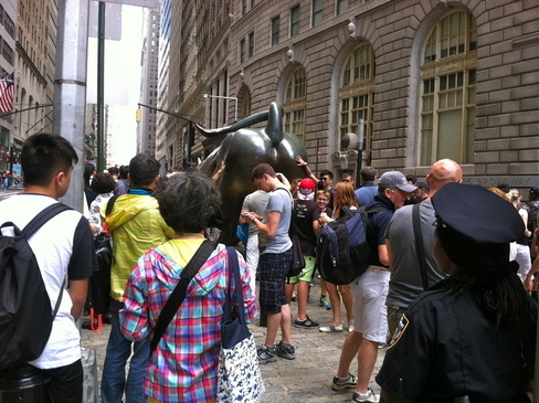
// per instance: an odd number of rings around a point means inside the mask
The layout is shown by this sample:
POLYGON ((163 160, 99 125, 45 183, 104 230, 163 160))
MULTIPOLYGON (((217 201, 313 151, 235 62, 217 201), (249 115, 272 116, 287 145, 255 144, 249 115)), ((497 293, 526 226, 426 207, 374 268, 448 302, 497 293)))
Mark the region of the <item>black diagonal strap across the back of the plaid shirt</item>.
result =
POLYGON ((150 341, 150 356, 154 353, 154 350, 159 343, 159 340, 161 340, 162 335, 165 335, 165 330, 167 330, 170 321, 180 308, 181 303, 183 303, 183 299, 186 298, 187 286, 200 271, 205 261, 208 261, 215 247, 216 244, 214 242, 210 242, 208 240, 204 241, 194 253, 194 256, 181 271, 181 278, 178 282, 178 285, 176 286, 172 294, 170 294, 170 297, 168 298, 165 307, 159 314, 159 318, 157 319, 156 330, 154 331, 154 337, 150 341))

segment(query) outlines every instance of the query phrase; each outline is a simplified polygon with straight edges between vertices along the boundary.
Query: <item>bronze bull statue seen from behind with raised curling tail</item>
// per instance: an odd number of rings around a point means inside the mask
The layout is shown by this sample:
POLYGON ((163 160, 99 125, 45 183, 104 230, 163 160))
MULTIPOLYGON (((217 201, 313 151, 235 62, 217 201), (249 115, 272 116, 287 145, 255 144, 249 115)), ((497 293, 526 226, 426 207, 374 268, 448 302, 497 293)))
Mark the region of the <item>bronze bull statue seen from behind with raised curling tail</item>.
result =
POLYGON ((221 161, 225 163, 224 172, 216 180, 223 199, 219 240, 221 243, 232 245, 237 242, 235 233, 243 199, 256 190, 251 182, 254 167, 267 162, 289 181, 305 177, 303 168, 294 160, 296 156, 307 160, 305 147, 296 135, 284 131, 283 115, 283 106, 274 102, 268 112, 250 116, 228 127, 204 129, 197 125, 197 129, 205 137, 230 134, 199 167, 212 177, 219 170, 221 161), (265 120, 267 126, 263 129, 247 128, 265 120))

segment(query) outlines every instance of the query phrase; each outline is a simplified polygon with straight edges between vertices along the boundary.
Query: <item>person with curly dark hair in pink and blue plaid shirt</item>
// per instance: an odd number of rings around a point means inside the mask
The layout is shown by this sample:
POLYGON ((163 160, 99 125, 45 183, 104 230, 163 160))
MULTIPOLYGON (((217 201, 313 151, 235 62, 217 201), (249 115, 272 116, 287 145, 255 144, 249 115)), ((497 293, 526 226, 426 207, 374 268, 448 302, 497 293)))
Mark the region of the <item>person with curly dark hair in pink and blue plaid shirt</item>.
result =
MULTIPOLYGON (((220 195, 211 180, 198 171, 180 172, 156 193, 159 211, 176 236, 146 252, 137 262, 120 310, 123 333, 142 342, 154 333, 159 315, 187 263, 204 242, 204 229, 219 211, 220 195), (181 209, 178 206, 181 205, 181 209)), ((245 318, 256 315, 256 297, 239 253, 245 318)), ((230 256, 223 244, 202 264, 189 283, 186 298, 150 357, 144 379, 148 402, 214 402, 221 347, 221 321, 228 290, 230 256)))

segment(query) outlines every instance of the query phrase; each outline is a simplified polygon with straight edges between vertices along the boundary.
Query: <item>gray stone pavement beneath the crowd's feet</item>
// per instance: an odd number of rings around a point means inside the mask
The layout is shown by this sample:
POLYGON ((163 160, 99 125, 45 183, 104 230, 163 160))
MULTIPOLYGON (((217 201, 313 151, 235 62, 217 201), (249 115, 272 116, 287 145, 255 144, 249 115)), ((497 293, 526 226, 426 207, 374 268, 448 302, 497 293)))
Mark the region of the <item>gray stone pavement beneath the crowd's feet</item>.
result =
MULTIPOLYGON (((328 325, 331 320, 331 311, 321 309, 318 306, 320 287, 317 284, 311 287, 311 297, 308 303, 307 314, 318 321, 321 326, 328 325)), ((292 303, 294 316, 297 314, 296 303, 292 303)), ((342 318, 346 319, 345 309, 341 309, 342 318)), ((253 324, 250 326, 251 331, 260 346, 265 338, 266 329, 253 324)), ((98 377, 105 359, 105 349, 108 339, 110 326, 104 325, 101 333, 94 333, 89 330, 82 330, 82 340, 84 347, 92 347, 97 352, 98 377)), ((349 402, 351 400, 351 390, 335 392, 330 389, 331 379, 337 372, 340 357, 340 350, 348 332, 345 330, 340 333, 323 333, 318 329, 298 329, 293 327, 293 343, 296 348, 295 360, 278 359, 277 362, 270 362, 261 365, 262 377, 266 388, 264 402, 349 402)), ((277 341, 281 340, 277 336, 277 341)), ((378 373, 384 356, 385 349, 379 350, 377 364, 370 386, 377 393, 380 388, 374 382, 374 375, 378 373)), ((352 362, 350 372, 357 373, 357 361, 352 362)))

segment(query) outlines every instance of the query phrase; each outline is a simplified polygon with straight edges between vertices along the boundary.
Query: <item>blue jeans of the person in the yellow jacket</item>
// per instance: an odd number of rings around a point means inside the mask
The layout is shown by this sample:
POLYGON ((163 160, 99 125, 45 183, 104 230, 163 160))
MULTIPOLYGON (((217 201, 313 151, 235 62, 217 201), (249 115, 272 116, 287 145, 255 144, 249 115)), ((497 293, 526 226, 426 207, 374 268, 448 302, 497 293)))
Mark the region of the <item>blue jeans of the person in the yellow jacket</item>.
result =
POLYGON ((147 403, 142 383, 150 357, 150 343, 148 340, 130 341, 121 335, 118 318, 121 308, 123 303, 110 300, 112 329, 103 365, 102 402, 120 403, 125 392, 127 403, 147 403), (126 381, 126 363, 131 354, 131 347, 133 356, 126 381))

